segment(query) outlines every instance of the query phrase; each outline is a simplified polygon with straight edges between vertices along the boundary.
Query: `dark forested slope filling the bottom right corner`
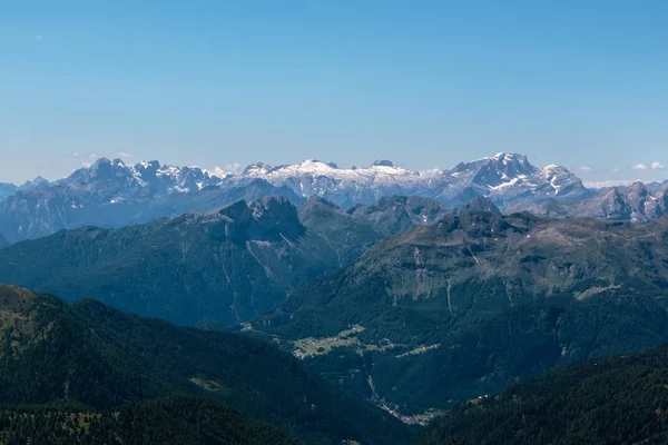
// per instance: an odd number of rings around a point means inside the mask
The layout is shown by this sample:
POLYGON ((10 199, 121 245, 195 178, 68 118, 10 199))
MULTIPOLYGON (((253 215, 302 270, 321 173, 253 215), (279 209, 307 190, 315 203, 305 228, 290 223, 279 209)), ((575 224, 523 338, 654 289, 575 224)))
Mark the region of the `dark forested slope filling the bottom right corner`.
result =
POLYGON ((666 444, 668 348, 564 366, 456 406, 415 444, 666 444))

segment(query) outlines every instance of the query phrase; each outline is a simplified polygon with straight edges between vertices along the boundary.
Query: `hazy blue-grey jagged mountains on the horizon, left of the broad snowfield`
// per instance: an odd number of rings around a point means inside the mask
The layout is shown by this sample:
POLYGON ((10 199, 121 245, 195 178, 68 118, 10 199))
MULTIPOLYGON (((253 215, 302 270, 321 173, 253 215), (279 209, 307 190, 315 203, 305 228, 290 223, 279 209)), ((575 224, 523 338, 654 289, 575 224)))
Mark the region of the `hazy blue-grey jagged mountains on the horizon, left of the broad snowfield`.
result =
MULTIPOLYGON (((213 211, 238 200, 281 196, 301 204, 303 199, 285 187, 274 187, 257 179, 243 187, 206 185, 186 174, 189 186, 166 185, 157 180, 149 186, 131 176, 125 167, 106 162, 102 174, 78 170, 62 181, 20 189, 0 202, 0 234, 9 241, 35 239, 65 229, 87 226, 121 228, 147 224, 185 212, 213 211), (116 171, 106 171, 114 168, 116 171), (130 175, 130 178, 128 178, 130 175), (202 188, 198 187, 203 186, 202 188)), ((186 168, 187 170, 187 168, 186 168)), ((199 171, 202 175, 202 171, 199 171)), ((165 178, 160 176, 160 178, 165 178)))

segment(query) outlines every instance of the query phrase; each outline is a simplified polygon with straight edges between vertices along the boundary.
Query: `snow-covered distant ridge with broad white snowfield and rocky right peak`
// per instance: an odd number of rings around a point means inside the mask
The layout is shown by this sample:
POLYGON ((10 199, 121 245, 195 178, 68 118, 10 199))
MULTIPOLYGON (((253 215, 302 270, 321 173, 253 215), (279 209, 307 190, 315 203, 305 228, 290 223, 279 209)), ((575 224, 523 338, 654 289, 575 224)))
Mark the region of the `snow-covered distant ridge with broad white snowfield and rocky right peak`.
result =
POLYGON ((278 167, 256 164, 229 180, 248 178, 287 186, 303 196, 322 196, 344 207, 392 195, 430 197, 451 207, 475 196, 505 205, 518 199, 577 199, 588 195, 582 181, 568 169, 554 165, 538 168, 525 156, 504 152, 430 174, 395 167, 389 160, 350 169, 318 160, 278 167))

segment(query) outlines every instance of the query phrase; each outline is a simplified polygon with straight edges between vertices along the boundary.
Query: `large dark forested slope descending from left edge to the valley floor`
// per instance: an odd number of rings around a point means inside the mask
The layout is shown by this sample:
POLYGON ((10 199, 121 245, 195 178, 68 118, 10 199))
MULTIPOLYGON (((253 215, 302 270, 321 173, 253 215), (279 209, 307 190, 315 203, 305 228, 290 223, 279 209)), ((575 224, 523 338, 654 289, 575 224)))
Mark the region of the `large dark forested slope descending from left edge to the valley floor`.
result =
POLYGON ((240 434, 247 439, 191 443, 250 444, 273 436, 291 443, 286 437, 293 436, 306 444, 397 444, 407 438, 399 421, 331 389, 294 357, 234 334, 180 328, 95 300, 67 305, 4 285, 0 332, 0 431, 8 422, 27 433, 58 429, 61 424, 32 423, 49 417, 39 414, 46 411, 53 413, 49 422, 69 417, 66 427, 71 419, 79 427, 91 425, 95 434, 129 427, 121 438, 135 437, 134 432, 146 437, 163 427, 175 437, 240 434), (164 398, 176 394, 206 399, 164 398))

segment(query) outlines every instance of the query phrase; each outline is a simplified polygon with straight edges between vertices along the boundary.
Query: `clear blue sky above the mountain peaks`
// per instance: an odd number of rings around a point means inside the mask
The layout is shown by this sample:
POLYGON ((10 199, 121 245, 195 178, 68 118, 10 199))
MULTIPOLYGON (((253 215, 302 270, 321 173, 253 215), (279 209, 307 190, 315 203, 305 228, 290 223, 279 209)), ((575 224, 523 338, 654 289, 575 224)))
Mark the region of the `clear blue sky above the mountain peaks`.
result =
POLYGON ((668 178, 668 1, 0 0, 0 181, 95 158, 668 178))

